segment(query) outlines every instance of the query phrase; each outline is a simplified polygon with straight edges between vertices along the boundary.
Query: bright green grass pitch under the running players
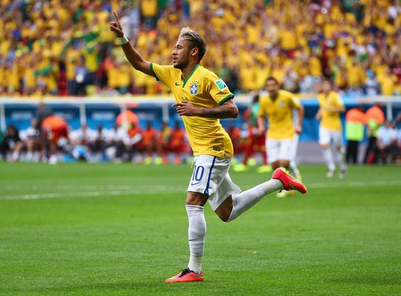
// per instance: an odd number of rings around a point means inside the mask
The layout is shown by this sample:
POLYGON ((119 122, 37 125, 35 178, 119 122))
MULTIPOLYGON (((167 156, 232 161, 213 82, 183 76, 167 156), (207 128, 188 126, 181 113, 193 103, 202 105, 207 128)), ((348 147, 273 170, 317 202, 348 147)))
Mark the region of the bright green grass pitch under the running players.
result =
POLYGON ((0 163, 0 294, 401 294, 401 167, 300 169, 306 195, 228 224, 206 205, 206 279, 167 284, 189 256, 189 165, 0 163))

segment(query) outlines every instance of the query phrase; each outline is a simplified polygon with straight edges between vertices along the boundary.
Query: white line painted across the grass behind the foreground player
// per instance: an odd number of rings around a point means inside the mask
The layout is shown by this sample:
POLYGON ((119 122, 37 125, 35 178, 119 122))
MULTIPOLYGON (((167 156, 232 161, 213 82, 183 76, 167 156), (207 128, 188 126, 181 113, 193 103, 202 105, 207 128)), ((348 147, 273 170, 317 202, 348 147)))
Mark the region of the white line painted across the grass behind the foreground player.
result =
MULTIPOLYGON (((327 182, 327 183, 310 183, 306 184, 308 190, 318 188, 337 188, 337 187, 385 187, 385 186, 401 186, 400 181, 355 181, 355 182, 327 182)), ((21 188, 19 186, 7 186, 8 190, 21 188)), ((185 187, 176 186, 149 186, 149 185, 81 185, 81 186, 26 186, 24 189, 38 190, 51 188, 52 190, 74 189, 79 192, 55 192, 55 193, 38 193, 38 194, 23 194, 23 195, 0 195, 0 200, 15 200, 15 199, 40 199, 40 198, 59 198, 59 197, 96 197, 96 196, 119 196, 119 195, 147 195, 158 193, 183 193, 185 187), (97 190, 96 190, 97 189, 97 190)))

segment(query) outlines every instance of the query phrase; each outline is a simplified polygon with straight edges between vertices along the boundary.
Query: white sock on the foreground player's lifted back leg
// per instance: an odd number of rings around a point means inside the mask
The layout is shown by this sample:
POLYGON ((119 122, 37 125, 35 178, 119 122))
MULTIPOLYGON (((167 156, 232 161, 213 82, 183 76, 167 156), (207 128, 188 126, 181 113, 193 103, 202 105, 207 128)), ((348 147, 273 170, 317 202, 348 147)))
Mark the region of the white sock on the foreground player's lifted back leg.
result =
POLYGON ((235 218, 239 217, 243 212, 249 210, 265 195, 279 189, 284 189, 283 183, 277 179, 270 179, 265 183, 259 184, 254 188, 248 189, 234 196, 233 210, 231 211, 231 215, 227 220, 227 222, 233 221, 235 218))

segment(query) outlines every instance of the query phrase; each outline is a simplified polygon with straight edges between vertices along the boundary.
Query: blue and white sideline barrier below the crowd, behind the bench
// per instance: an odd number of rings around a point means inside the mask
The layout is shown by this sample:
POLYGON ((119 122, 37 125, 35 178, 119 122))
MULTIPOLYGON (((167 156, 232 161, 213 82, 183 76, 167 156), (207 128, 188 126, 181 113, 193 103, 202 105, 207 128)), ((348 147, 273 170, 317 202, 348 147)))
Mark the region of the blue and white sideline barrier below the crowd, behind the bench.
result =
MULTIPOLYGON (((316 95, 298 95, 305 107, 305 119, 303 133, 300 141, 317 141, 318 121, 314 116, 318 109, 316 95)), ((240 127, 245 123, 243 114, 252 100, 252 95, 237 95, 235 101, 240 111, 237 119, 223 119, 222 125, 228 128, 230 125, 240 127)), ((388 119, 393 119, 401 111, 401 96, 376 96, 376 97, 343 97, 347 109, 357 105, 372 105, 380 102, 383 105, 388 119)), ((171 107, 175 101, 167 96, 121 96, 121 97, 0 97, 0 128, 6 130, 9 123, 13 123, 18 129, 26 129, 36 117, 39 102, 53 109, 55 115, 64 118, 72 129, 78 129, 82 123, 96 129, 98 125, 110 129, 119 113, 130 109, 138 115, 142 128, 150 121, 156 129, 160 129, 161 123, 167 122, 171 127, 176 121, 182 125, 180 116, 171 107)), ((345 113, 341 119, 344 124, 345 113)))

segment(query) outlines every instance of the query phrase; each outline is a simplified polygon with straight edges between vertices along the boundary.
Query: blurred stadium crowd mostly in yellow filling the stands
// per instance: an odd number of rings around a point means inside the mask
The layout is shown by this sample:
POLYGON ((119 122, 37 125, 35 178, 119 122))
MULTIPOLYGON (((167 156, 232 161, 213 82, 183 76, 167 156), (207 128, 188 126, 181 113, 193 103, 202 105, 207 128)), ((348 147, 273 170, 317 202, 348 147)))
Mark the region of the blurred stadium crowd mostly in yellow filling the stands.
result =
POLYGON ((397 0, 2 0, 0 95, 166 94, 125 60, 108 28, 113 9, 158 64, 171 64, 179 29, 191 26, 210 46, 205 67, 233 92, 269 76, 291 92, 317 93, 323 76, 342 94, 401 90, 397 0))

